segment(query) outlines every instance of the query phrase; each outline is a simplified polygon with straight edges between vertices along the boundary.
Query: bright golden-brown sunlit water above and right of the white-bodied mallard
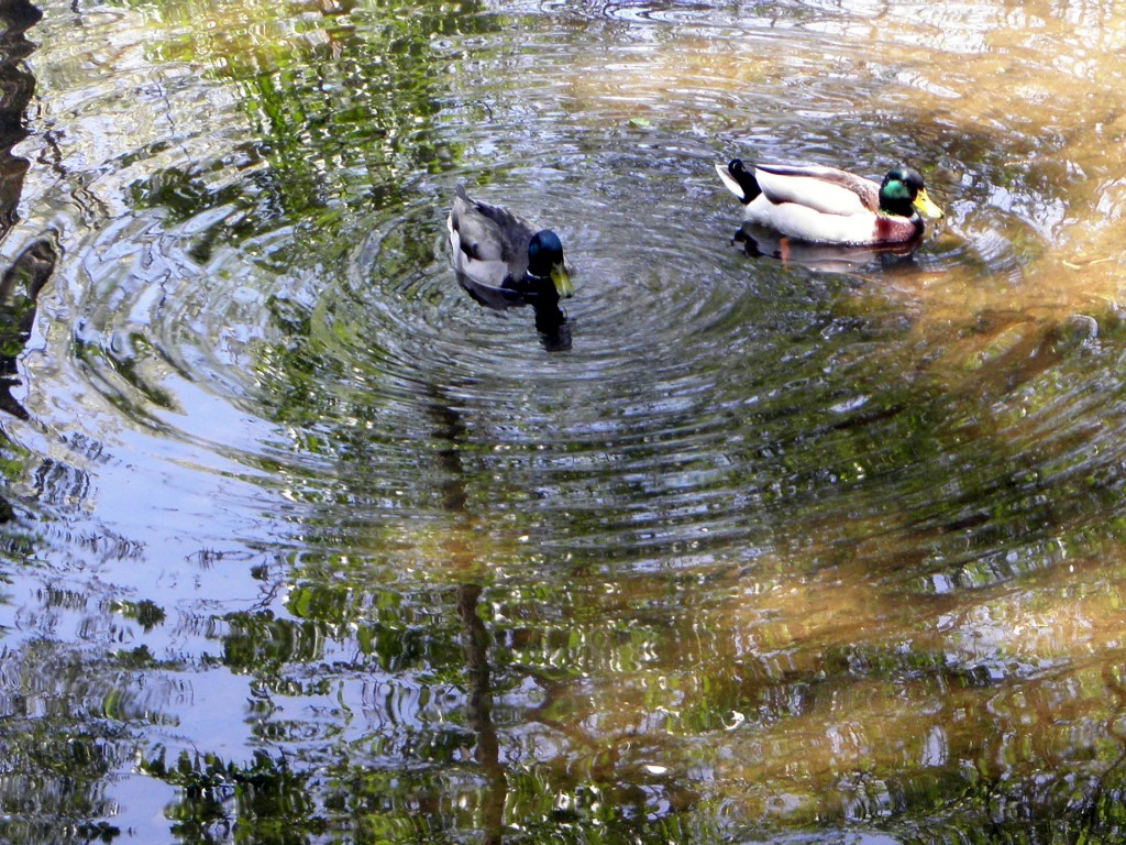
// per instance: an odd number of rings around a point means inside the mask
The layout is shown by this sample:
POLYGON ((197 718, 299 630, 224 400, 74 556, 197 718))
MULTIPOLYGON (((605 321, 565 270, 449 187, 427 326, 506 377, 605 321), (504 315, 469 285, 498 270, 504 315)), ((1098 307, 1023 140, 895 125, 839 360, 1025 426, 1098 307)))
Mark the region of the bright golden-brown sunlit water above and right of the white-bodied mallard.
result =
MULTIPOLYGON (((679 126, 695 123, 686 97, 706 100, 713 114, 701 128, 734 141, 720 157, 794 155, 865 172, 913 159, 949 215, 931 228, 930 248, 963 260, 930 261, 891 284, 951 379, 988 363, 997 344, 1035 346, 1073 314, 1114 311, 1126 295, 1121 5, 893 2, 867 15, 792 9, 784 19, 783 30, 765 17, 761 37, 738 38, 635 26, 627 46, 615 36, 609 50, 584 32, 570 70, 553 71, 593 123, 679 126), (591 72, 607 61, 613 73, 591 72), (927 150, 946 154, 920 160, 927 150), (1019 338, 1010 326, 959 336, 999 311, 1028 315, 1019 338)), ((715 201, 726 202, 720 187, 715 201)))

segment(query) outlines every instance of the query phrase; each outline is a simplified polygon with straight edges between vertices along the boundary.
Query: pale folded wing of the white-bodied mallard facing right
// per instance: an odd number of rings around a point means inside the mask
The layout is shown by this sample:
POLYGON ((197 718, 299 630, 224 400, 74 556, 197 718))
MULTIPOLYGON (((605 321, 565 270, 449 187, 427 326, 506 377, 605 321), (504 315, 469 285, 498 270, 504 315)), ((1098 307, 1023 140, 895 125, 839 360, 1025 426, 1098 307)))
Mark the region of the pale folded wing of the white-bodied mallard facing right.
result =
POLYGON ((754 178, 771 203, 797 203, 822 214, 879 210, 879 185, 847 170, 817 164, 756 164, 754 178))

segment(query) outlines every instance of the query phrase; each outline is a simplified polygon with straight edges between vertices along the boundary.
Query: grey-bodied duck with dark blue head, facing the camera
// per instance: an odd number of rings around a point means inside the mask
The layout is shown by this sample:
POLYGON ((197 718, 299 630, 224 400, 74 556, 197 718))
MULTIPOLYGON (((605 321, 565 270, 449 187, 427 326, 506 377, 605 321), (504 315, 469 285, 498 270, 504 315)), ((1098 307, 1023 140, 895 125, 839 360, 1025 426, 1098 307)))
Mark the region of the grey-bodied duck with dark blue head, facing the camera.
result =
POLYGON ((530 297, 574 294, 563 244, 551 229, 537 231, 506 208, 471 199, 462 185, 447 224, 454 269, 475 285, 530 297))

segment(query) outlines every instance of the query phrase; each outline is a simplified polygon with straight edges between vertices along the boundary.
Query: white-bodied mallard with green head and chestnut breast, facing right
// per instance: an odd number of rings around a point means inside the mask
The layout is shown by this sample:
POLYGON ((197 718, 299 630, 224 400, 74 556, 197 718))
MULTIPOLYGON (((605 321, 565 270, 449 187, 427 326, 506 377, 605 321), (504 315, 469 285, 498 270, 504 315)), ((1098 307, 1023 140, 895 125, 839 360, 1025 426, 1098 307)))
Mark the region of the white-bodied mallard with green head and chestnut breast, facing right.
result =
POLYGON ((747 206, 748 222, 811 243, 906 243, 922 234, 923 215, 944 216, 910 167, 893 168, 879 185, 812 164, 756 164, 752 171, 734 159, 715 169, 747 206))

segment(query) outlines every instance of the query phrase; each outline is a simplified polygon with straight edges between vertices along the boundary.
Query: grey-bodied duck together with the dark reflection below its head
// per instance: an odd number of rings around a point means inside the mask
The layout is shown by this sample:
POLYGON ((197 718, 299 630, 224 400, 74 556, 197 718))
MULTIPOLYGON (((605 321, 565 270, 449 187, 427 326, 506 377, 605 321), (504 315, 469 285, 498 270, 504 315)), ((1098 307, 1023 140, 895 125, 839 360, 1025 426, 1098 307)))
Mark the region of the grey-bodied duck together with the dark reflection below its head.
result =
POLYGON ((558 235, 472 199, 461 185, 447 225, 457 281, 470 296, 494 311, 529 305, 544 347, 570 349, 571 326, 558 303, 574 287, 558 235))

